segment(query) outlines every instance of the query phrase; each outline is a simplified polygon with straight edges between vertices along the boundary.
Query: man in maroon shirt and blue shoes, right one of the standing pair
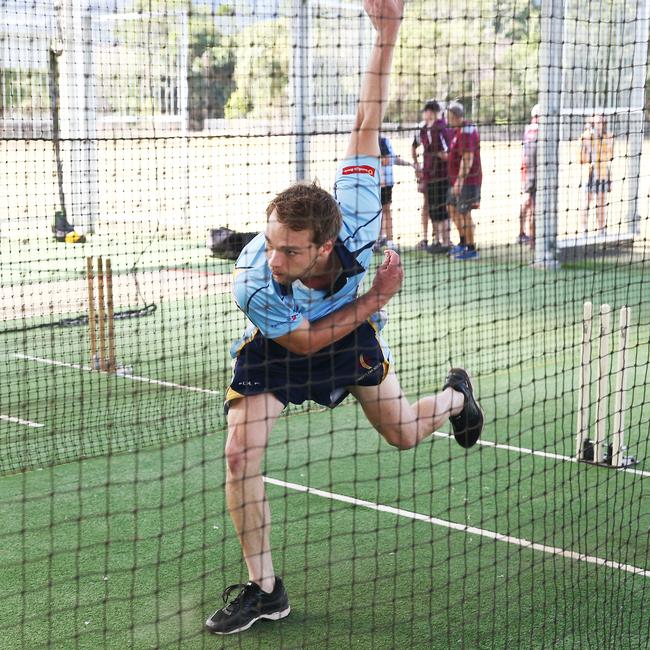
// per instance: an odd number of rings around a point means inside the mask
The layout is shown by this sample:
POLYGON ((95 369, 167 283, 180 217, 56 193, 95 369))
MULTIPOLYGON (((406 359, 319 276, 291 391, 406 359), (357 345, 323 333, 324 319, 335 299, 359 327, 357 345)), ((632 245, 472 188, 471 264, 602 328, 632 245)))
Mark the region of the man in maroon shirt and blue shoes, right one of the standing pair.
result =
POLYGON ((451 102, 447 107, 447 121, 452 129, 447 209, 460 235, 460 243, 449 254, 456 260, 476 259, 472 210, 479 207, 483 182, 478 129, 465 120, 465 110, 459 102, 451 102))

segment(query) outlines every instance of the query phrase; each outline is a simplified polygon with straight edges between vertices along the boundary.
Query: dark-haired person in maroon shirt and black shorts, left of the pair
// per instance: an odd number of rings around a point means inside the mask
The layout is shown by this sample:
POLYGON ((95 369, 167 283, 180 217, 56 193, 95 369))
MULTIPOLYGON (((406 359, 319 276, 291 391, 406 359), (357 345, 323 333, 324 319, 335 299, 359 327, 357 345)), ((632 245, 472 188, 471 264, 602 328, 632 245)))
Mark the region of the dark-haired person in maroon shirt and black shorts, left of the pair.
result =
POLYGON ((422 205, 422 240, 418 249, 431 253, 448 252, 451 249, 449 239, 449 215, 447 214, 447 149, 449 136, 447 124, 440 115, 440 104, 430 99, 422 109, 420 124, 411 153, 418 179, 418 190, 423 195, 422 205), (418 160, 418 149, 422 147, 422 164, 418 160), (427 231, 431 220, 431 246, 427 247, 427 231))

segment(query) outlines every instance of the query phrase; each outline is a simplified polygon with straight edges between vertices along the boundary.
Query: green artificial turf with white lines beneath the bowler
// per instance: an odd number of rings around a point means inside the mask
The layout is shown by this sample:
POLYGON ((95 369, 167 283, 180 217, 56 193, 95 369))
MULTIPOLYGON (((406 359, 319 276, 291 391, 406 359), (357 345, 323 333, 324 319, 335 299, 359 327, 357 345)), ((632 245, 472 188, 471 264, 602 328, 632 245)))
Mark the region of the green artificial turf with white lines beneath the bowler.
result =
MULTIPOLYGON (((64 281, 83 285, 92 249, 73 250, 65 271, 32 269, 42 310, 13 325, 64 314, 50 305, 64 281)), ((243 317, 229 263, 202 243, 167 240, 143 259, 158 308, 116 321, 121 376, 88 370, 85 327, 2 336, 0 414, 14 418, 0 420, 3 647, 648 646, 643 259, 550 273, 514 245, 464 265, 406 252, 385 330, 397 372, 415 398, 467 367, 487 414, 481 445, 465 452, 440 432, 398 452, 352 400, 290 410, 265 476, 292 614, 225 639, 202 625, 245 580, 221 408, 243 317), (585 300, 632 307, 633 469, 572 459, 585 300)), ((132 263, 115 242, 117 308, 138 302, 132 263)), ((83 311, 72 296, 64 315, 83 311)))

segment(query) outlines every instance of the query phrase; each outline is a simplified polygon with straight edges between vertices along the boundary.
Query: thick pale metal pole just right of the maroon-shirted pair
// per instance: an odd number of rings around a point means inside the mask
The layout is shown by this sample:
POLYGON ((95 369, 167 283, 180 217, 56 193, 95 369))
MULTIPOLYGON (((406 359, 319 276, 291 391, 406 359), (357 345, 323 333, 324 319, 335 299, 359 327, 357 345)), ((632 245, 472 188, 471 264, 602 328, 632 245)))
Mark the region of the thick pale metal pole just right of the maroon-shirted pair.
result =
POLYGON ((558 169, 564 0, 542 0, 539 48, 539 135, 534 266, 557 268, 558 169))

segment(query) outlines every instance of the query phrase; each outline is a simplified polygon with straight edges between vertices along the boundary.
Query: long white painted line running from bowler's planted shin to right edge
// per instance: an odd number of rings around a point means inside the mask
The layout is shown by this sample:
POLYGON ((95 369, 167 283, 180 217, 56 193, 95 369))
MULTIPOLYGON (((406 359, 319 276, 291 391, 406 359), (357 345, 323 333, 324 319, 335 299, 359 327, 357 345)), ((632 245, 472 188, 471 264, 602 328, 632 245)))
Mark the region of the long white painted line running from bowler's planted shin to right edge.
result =
POLYGON ((311 488, 306 485, 300 485, 298 483, 289 483, 287 481, 281 481, 279 479, 270 478, 268 476, 264 477, 264 482, 269 483, 271 485, 278 485, 280 487, 285 487, 290 490, 295 490, 296 492, 305 492, 307 494, 313 494, 314 496, 323 497, 324 499, 331 499, 332 501, 341 501, 342 503, 349 503, 354 506, 360 506, 362 508, 369 508, 370 510, 376 510, 378 512, 385 512, 388 514, 397 515, 398 517, 406 517, 407 519, 424 521, 434 526, 442 526, 443 528, 449 528, 450 530, 457 530, 462 533, 468 533, 470 535, 479 535, 481 537, 487 537, 488 539, 493 539, 497 542, 506 542, 507 544, 514 544, 515 546, 521 546, 522 548, 527 548, 532 551, 541 551, 542 553, 548 553, 549 555, 557 555, 559 557, 564 557, 569 560, 588 562, 589 564, 606 566, 610 569, 618 569, 619 571, 626 571, 628 573, 634 573, 636 575, 643 576, 644 578, 650 578, 650 569, 642 569, 641 567, 636 567, 631 564, 623 564, 621 562, 616 562, 615 560, 606 560, 605 558, 595 557, 593 555, 585 555, 584 553, 577 553, 576 551, 567 551, 563 548, 558 548, 556 546, 547 546, 546 544, 539 544, 537 542, 532 542, 528 539, 522 539, 520 537, 512 537, 510 535, 503 535, 502 533, 496 533, 491 530, 484 530, 483 528, 477 528, 476 526, 467 526, 465 524, 459 524, 454 521, 447 521, 446 519, 438 519, 437 517, 431 517, 430 515, 423 515, 418 512, 412 512, 411 510, 404 510, 403 508, 394 508, 393 506, 385 506, 378 503, 373 503, 372 501, 365 501, 363 499, 349 497, 344 494, 335 494, 333 492, 326 492, 325 490, 318 490, 316 488, 311 488))

